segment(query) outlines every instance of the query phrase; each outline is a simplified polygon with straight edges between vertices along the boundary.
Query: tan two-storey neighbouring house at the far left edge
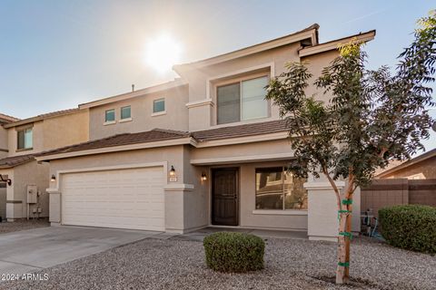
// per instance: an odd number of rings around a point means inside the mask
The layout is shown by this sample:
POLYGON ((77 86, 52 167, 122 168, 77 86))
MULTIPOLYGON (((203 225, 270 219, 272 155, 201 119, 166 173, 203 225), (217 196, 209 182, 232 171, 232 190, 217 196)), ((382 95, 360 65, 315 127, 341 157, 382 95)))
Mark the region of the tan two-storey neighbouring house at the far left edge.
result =
POLYGON ((78 109, 3 122, 0 149, 5 155, 0 159, 0 175, 11 179, 11 184, 0 182, 0 188, 5 187, 0 191, 2 218, 48 217, 49 166, 38 164, 35 154, 89 140, 88 123, 88 112, 78 109))

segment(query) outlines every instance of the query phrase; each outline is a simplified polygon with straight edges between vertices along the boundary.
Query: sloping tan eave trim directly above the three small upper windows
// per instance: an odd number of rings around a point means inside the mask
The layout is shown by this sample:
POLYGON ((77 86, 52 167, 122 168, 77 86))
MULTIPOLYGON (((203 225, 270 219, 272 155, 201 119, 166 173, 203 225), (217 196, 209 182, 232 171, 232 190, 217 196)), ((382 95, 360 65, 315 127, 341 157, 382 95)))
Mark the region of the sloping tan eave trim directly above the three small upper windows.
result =
POLYGON ((143 96, 144 94, 166 91, 166 90, 173 89, 173 88, 176 88, 179 86, 183 86, 185 84, 187 84, 187 82, 185 82, 183 79, 177 79, 177 80, 174 80, 172 82, 161 83, 161 84, 158 84, 158 85, 155 85, 152 87, 145 88, 143 90, 138 90, 138 91, 134 91, 134 92, 127 92, 127 93, 119 94, 119 95, 116 95, 113 97, 97 100, 94 102, 82 103, 82 104, 79 104, 79 109, 83 110, 83 109, 93 108, 96 106, 101 106, 101 105, 104 105, 104 104, 110 103, 110 102, 124 101, 127 99, 143 96))

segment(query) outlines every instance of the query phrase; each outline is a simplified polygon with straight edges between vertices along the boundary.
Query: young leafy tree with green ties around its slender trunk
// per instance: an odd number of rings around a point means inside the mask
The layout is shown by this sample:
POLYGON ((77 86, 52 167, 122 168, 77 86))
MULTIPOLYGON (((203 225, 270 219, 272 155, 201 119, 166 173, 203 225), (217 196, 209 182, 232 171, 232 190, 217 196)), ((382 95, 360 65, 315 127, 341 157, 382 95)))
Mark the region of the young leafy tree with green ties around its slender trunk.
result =
POLYGON ((383 66, 365 69, 366 53, 356 40, 339 48, 340 55, 314 85, 330 93, 329 103, 306 96, 312 78, 305 63, 287 64, 287 72, 272 79, 266 98, 287 121, 297 177, 328 179, 337 199, 339 217, 336 283, 349 280, 352 239, 352 195, 368 185, 375 169, 390 160, 407 160, 423 150, 435 106, 430 82, 436 62, 436 14, 419 22, 415 40, 400 54, 396 73, 383 66), (341 193, 335 180, 346 180, 341 193))

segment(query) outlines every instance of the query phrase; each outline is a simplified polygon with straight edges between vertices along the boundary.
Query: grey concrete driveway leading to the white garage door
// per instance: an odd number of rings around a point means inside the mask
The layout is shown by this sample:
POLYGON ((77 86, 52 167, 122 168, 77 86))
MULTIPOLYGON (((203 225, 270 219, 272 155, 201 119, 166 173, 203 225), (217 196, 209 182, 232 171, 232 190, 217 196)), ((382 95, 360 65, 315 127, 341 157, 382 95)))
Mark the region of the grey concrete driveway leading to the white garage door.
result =
POLYGON ((0 235, 0 275, 22 275, 159 232, 99 227, 44 227, 0 235))

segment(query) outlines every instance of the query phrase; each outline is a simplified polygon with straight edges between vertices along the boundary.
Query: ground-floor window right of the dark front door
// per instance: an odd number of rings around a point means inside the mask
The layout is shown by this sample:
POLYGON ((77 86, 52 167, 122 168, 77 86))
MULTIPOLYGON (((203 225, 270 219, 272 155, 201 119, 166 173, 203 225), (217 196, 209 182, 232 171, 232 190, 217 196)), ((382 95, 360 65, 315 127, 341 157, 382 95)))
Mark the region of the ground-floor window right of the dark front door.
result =
POLYGON ((304 182, 283 167, 256 169, 256 209, 307 209, 304 182))

